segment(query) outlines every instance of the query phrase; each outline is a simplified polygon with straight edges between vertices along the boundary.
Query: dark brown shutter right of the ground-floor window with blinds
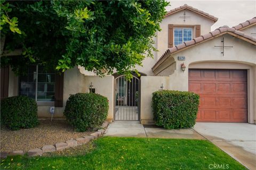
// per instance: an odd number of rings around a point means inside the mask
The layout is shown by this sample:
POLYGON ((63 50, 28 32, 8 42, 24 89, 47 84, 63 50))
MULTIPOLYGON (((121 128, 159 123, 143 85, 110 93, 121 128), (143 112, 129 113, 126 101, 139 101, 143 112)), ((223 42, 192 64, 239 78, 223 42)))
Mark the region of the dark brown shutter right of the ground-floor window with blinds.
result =
POLYGON ((63 73, 56 73, 55 77, 55 107, 63 107, 63 73))

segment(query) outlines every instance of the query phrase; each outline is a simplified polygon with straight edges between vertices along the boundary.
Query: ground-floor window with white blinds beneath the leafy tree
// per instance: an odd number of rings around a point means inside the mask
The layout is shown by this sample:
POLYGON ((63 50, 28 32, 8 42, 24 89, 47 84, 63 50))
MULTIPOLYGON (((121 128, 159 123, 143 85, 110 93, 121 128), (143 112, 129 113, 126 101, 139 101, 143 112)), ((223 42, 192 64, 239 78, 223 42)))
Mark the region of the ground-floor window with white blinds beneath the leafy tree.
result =
POLYGON ((55 71, 45 71, 42 65, 30 65, 27 75, 20 77, 19 94, 36 101, 54 101, 55 71))

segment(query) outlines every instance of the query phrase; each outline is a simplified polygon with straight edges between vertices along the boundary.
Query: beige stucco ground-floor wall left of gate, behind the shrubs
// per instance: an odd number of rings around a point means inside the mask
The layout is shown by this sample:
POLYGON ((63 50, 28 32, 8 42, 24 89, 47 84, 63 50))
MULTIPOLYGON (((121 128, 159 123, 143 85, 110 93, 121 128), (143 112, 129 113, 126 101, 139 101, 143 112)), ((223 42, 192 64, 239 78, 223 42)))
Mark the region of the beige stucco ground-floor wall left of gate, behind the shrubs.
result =
MULTIPOLYGON (((95 88, 95 93, 102 96, 106 96, 109 100, 108 120, 113 118, 114 111, 114 77, 106 76, 99 78, 97 76, 85 76, 81 74, 77 67, 70 69, 64 73, 63 82, 63 107, 55 107, 54 118, 64 118, 63 111, 66 106, 66 101, 69 95, 76 94, 78 92, 89 92, 90 85, 95 88)), ((9 75, 9 96, 18 95, 18 77, 15 77, 13 72, 9 75)), ((50 107, 54 106, 52 103, 39 103, 38 102, 38 117, 50 118, 50 107)))

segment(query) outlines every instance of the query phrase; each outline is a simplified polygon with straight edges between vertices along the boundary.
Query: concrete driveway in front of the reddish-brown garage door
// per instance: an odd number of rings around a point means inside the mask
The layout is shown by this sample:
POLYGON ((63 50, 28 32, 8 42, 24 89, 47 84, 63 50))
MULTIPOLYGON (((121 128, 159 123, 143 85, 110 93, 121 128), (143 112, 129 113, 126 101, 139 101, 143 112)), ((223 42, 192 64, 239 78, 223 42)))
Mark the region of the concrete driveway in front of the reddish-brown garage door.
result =
POLYGON ((198 122, 193 128, 249 169, 256 169, 256 125, 198 122))

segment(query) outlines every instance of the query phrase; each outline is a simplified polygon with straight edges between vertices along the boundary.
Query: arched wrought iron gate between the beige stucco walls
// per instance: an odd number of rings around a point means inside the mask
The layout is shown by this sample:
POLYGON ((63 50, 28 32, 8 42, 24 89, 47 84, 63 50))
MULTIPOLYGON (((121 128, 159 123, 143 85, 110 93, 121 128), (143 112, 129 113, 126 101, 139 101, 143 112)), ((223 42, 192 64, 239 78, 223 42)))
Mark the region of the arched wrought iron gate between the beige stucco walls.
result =
POLYGON ((115 79, 115 120, 140 120, 140 80, 133 77, 130 81, 121 75, 115 79))

